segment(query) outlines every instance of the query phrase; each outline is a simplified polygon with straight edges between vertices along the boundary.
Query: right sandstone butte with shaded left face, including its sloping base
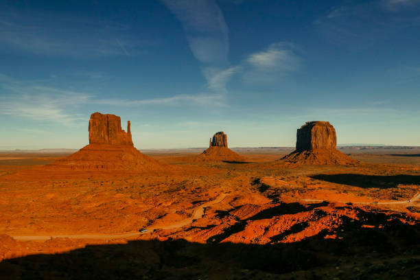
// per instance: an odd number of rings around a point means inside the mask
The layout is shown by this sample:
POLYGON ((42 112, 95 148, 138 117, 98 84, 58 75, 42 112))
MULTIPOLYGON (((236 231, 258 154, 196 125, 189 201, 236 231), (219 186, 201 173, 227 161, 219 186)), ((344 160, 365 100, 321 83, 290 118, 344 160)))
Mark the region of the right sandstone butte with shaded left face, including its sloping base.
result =
POLYGON ((296 134, 296 150, 281 161, 297 165, 353 165, 358 163, 337 150, 334 126, 328 121, 307 121, 296 134))

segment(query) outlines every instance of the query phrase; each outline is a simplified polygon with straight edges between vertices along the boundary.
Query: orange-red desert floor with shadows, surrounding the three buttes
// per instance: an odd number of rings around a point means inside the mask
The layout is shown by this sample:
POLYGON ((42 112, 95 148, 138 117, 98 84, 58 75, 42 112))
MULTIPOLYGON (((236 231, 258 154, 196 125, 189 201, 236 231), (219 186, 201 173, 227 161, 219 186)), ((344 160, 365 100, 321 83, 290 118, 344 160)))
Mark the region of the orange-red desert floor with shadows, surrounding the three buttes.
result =
POLYGON ((0 152, 0 278, 420 279, 420 149, 148 150, 176 168, 45 172, 68 154, 0 152), (147 229, 145 232, 139 232, 147 229))

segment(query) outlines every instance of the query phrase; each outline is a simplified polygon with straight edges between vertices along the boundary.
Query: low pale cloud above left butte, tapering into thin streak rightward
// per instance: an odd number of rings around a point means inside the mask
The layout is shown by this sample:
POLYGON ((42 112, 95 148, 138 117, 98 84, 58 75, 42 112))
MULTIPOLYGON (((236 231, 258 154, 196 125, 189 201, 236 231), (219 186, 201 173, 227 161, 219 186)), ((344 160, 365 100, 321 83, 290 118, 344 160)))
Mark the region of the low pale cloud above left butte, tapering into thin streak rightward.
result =
POLYGON ((35 121, 49 121, 65 126, 83 124, 80 113, 84 105, 108 106, 193 106, 229 107, 220 94, 174 95, 143 100, 99 99, 81 91, 69 91, 40 86, 38 81, 16 80, 0 74, 0 115, 10 115, 35 121))

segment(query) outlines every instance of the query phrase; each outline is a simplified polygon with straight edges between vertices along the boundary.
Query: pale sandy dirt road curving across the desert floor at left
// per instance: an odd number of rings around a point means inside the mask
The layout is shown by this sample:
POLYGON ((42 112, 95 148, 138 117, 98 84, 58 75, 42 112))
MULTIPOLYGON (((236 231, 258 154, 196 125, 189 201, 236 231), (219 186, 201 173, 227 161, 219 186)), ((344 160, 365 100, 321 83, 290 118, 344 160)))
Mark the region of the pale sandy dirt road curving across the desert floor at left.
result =
MULTIPOLYGON (((215 200, 206 202, 203 205, 200 205, 197 207, 196 210, 194 210, 193 215, 191 218, 187 218, 185 220, 175 222, 173 224, 167 224, 167 225, 152 225, 148 227, 148 232, 153 231, 154 229, 176 229, 179 227, 186 226, 187 224, 191 224, 194 220, 202 218, 204 215, 204 211, 206 207, 209 207, 211 205, 218 204, 226 198, 227 194, 220 194, 218 198, 215 200)), ((52 238, 73 238, 73 239, 95 239, 95 240, 106 240, 106 239, 116 239, 116 238, 127 238, 127 237, 133 237, 137 235, 141 235, 144 233, 140 233, 139 231, 135 231, 132 233, 117 233, 117 234, 77 234, 77 235, 27 235, 27 236, 13 236, 14 240, 19 241, 44 241, 44 240, 50 240, 52 238)))

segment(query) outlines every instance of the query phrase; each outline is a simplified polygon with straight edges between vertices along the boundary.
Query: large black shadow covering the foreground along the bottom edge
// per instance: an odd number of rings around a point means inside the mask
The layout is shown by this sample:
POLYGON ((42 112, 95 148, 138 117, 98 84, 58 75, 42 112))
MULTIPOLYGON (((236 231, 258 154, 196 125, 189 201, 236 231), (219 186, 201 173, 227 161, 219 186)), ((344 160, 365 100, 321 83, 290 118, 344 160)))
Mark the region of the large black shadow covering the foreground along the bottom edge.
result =
MULTIPOLYGON (((342 220, 333 232, 293 243, 139 240, 30 255, 1 262, 0 279, 415 279, 420 224, 390 220, 385 213, 360 210, 359 215, 357 221, 342 220), (368 220, 373 228, 363 226, 368 220), (328 239, 331 234, 337 238, 328 239)), ((279 241, 306 226, 298 223, 271 239, 279 241)))

